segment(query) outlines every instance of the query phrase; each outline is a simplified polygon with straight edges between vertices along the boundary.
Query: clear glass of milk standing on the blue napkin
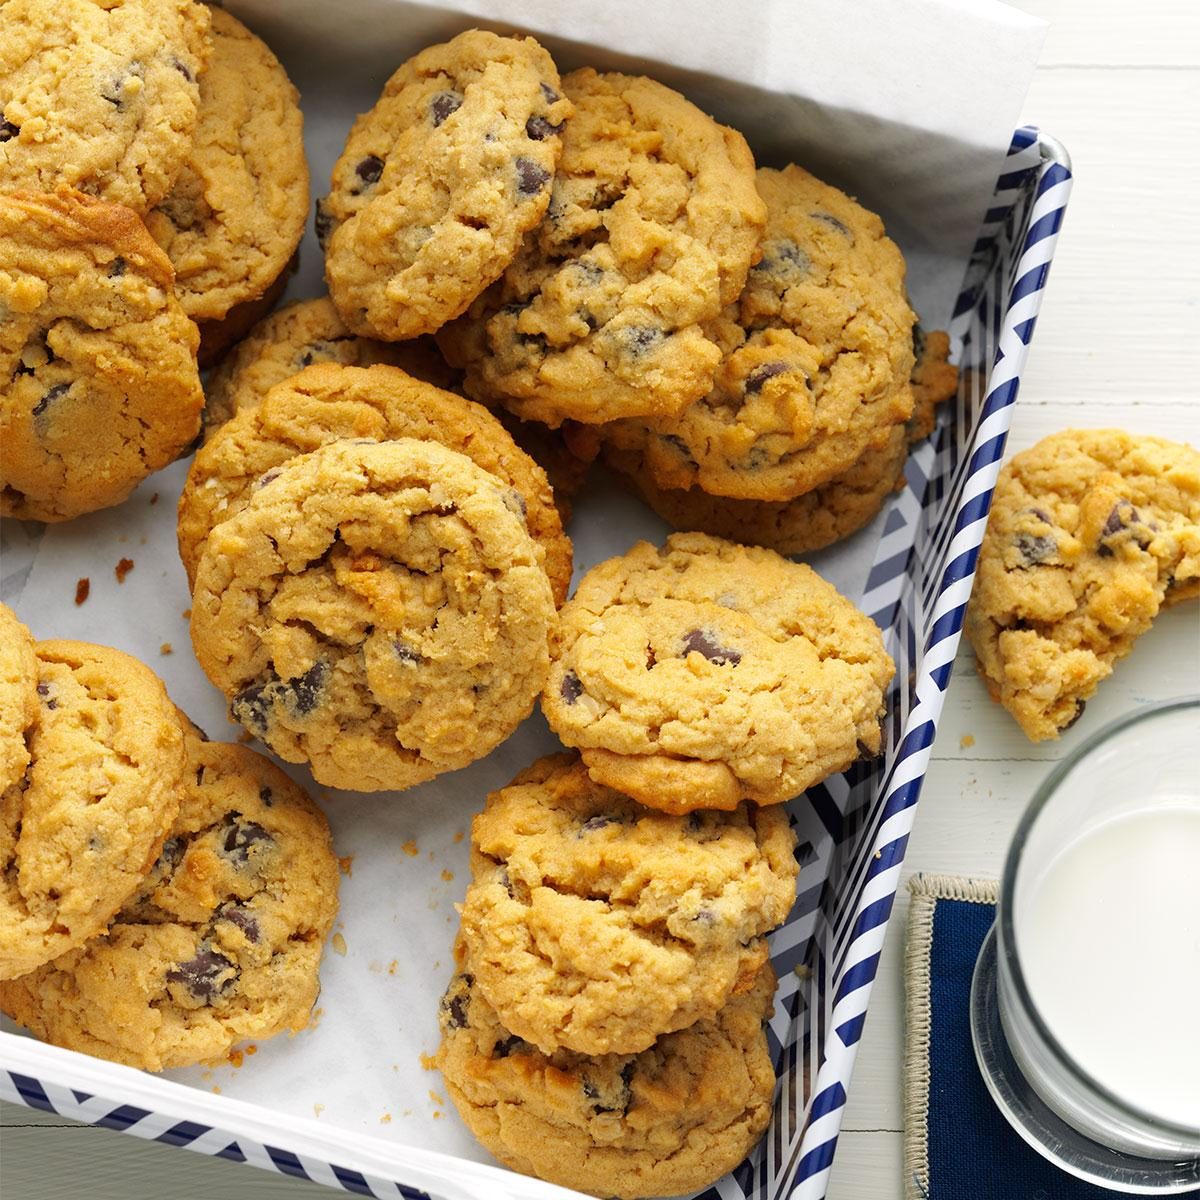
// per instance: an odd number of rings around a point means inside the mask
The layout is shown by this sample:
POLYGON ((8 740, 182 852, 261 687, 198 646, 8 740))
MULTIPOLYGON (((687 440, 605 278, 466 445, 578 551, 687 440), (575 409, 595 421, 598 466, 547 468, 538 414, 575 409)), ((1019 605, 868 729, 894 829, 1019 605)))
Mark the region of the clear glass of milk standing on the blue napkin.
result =
POLYGON ((1200 1187, 1200 697, 1108 726, 1033 797, 972 1032, 1048 1158, 1126 1192, 1200 1187))

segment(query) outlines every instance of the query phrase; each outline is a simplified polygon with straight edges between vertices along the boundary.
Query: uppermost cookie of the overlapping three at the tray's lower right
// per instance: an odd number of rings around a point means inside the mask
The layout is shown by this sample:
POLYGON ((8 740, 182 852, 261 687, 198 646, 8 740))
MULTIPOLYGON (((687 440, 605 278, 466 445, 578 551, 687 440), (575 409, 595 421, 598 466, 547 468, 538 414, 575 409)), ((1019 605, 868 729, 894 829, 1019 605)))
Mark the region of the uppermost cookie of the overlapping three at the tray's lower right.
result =
POLYGON ((811 568, 706 534, 638 542, 563 606, 542 712, 666 812, 778 804, 881 745, 893 664, 811 568))

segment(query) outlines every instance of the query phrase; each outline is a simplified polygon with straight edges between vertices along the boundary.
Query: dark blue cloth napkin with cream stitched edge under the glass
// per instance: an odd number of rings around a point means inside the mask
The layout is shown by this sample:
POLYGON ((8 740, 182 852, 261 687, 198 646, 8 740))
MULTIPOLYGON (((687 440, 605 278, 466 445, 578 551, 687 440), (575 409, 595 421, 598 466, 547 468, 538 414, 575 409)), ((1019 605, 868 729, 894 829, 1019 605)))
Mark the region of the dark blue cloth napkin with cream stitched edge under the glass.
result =
POLYGON ((1075 1180, 1027 1146, 992 1103, 979 1074, 971 1043, 971 974, 996 916, 995 905, 980 896, 994 896, 994 886, 918 877, 912 890, 911 935, 919 922, 924 936, 911 936, 908 950, 908 1118, 920 1121, 922 1114, 914 1111, 912 1076, 926 1069, 926 1052, 929 1087, 924 1129, 907 1132, 910 1195, 928 1200, 1118 1200, 1123 1193, 1075 1180), (914 980, 913 974, 922 970, 928 974, 914 980), (913 1020, 914 995, 922 998, 928 1021, 924 1016, 913 1020))

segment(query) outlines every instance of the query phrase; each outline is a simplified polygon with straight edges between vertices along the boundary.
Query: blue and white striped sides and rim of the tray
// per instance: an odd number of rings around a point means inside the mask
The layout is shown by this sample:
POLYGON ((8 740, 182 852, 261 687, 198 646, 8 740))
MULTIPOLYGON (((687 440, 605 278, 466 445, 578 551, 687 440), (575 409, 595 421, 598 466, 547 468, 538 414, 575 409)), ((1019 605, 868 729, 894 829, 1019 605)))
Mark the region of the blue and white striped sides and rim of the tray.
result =
MULTIPOLYGON (((884 755, 788 806, 800 894, 773 937, 779 1084, 766 1136, 702 1200, 822 1200, 920 786, 949 684, 1020 376, 1070 193, 1063 148, 1018 130, 950 328, 956 400, 890 502, 863 607, 896 660, 884 755)), ((0 1099, 404 1200, 559 1200, 499 1168, 295 1117, 0 1032, 0 1099)))

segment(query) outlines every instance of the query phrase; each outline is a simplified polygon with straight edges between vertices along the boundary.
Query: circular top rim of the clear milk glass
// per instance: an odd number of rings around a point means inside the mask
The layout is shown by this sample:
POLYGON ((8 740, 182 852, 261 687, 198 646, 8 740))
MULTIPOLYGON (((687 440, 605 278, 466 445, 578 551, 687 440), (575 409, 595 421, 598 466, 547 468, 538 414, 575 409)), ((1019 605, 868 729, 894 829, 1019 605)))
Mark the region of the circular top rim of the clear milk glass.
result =
POLYGON ((1079 766, 1080 762, 1099 749, 1115 733, 1122 733, 1130 726, 1140 725, 1144 721, 1151 721, 1156 718, 1165 716, 1170 713, 1189 708, 1200 709, 1200 695, 1176 696, 1171 700, 1160 701, 1159 703, 1139 708, 1133 713, 1127 713, 1124 716, 1118 716, 1115 721, 1110 721, 1108 725, 1102 726, 1079 746, 1076 746, 1069 755, 1067 755, 1062 762, 1055 766, 1054 770, 1051 770, 1050 774, 1046 775, 1046 778, 1038 785, 1037 791, 1033 793, 1033 798, 1030 800, 1025 811, 1021 814, 1020 821, 1016 823, 1016 830, 1013 834, 1013 840, 1008 846, 1008 853, 1004 857, 1004 872, 1001 876, 1000 899, 996 905, 998 934, 997 950, 1003 953, 1004 965, 1009 970, 1009 976, 1012 978, 1013 986, 1016 990, 1018 998, 1025 1008, 1025 1012, 1028 1014, 1038 1037, 1040 1037, 1042 1040, 1049 1046, 1050 1051, 1055 1055, 1061 1066, 1066 1068, 1067 1073, 1074 1078, 1075 1082, 1084 1085, 1084 1087, 1098 1096, 1122 1116, 1132 1117, 1142 1124, 1153 1127, 1158 1133, 1164 1133, 1171 1138, 1178 1138, 1182 1141, 1194 1141, 1195 1138, 1200 1135, 1200 1127, 1180 1124, 1169 1117, 1163 1117, 1157 1112, 1151 1112, 1148 1109, 1144 1109, 1140 1105, 1133 1104, 1130 1100, 1126 1100, 1117 1096, 1111 1088, 1109 1088, 1105 1084, 1102 1084, 1094 1075, 1092 1075, 1091 1072, 1084 1068, 1067 1051, 1066 1046, 1063 1046, 1055 1033, 1050 1030, 1037 1004, 1034 1004, 1033 996, 1025 980, 1025 972, 1021 967, 1020 954, 1016 949, 1016 929, 1013 922, 1013 907, 1016 893, 1016 871, 1020 866, 1025 846, 1028 842, 1030 834, 1032 833, 1034 824, 1037 824, 1038 817, 1042 816, 1043 810, 1054 798, 1062 781, 1079 766))

